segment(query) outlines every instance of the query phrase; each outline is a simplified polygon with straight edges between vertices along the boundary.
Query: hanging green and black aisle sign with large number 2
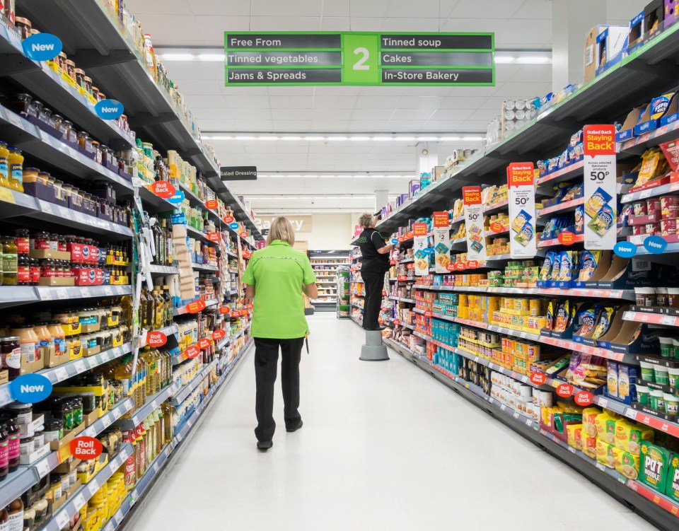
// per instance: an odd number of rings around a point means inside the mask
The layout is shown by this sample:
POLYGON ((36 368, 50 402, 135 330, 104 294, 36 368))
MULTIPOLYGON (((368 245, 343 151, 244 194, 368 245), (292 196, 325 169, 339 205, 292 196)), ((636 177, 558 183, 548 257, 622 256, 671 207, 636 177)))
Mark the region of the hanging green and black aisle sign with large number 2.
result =
POLYGON ((224 33, 226 86, 495 85, 494 33, 224 33))

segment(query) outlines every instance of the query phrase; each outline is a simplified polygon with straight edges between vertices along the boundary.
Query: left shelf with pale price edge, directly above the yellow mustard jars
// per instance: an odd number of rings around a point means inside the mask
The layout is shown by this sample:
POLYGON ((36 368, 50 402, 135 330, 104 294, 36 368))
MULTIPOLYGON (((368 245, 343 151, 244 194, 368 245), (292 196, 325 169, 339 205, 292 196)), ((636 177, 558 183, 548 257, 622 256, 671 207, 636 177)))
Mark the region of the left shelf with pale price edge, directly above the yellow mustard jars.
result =
MULTIPOLYGON (((68 115, 66 115, 68 116, 68 115)), ((100 122, 103 120, 100 119, 100 122)), ((57 166, 66 173, 78 175, 81 179, 95 177, 106 180, 117 192, 132 196, 132 182, 124 179, 105 166, 80 153, 56 137, 28 122, 6 107, 0 105, 0 126, 3 126, 3 140, 11 142, 30 156, 49 165, 57 166)))

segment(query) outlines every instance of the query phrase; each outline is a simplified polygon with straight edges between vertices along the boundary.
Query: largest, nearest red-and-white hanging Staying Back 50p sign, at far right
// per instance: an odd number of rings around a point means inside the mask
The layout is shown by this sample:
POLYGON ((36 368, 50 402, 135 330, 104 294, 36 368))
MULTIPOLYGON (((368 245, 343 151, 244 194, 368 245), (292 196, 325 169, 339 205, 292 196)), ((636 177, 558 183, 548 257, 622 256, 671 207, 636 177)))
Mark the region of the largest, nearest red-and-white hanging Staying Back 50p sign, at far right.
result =
POLYGON ((615 126, 583 129, 585 249, 613 249, 617 243, 615 126))

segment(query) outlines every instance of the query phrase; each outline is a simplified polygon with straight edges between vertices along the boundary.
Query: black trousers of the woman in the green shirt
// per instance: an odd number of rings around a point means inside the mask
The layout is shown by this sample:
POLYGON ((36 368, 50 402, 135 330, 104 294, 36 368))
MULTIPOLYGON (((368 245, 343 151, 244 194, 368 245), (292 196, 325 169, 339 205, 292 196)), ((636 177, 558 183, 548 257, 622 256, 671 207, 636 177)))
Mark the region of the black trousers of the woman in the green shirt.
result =
POLYGON ((304 338, 265 339, 255 337, 255 381, 257 382, 257 440, 272 440, 276 431, 274 421, 274 383, 278 369, 278 349, 282 353, 281 380, 283 387, 284 419, 286 428, 294 428, 302 417, 299 407, 299 361, 304 338))

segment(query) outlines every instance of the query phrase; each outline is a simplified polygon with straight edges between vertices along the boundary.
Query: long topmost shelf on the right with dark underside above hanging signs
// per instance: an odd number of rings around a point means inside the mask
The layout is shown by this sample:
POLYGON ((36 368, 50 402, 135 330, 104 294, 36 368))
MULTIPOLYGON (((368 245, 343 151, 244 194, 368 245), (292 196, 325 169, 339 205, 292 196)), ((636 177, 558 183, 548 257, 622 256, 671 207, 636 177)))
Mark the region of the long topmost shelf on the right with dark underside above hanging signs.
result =
POLYGON ((489 185, 506 182, 509 163, 526 158, 534 160, 550 150, 562 148, 582 124, 592 123, 591 120, 599 124, 613 122, 640 101, 646 101, 649 95, 671 89, 676 83, 666 76, 664 61, 673 60, 678 50, 679 26, 674 25, 576 93, 540 113, 526 127, 446 173, 390 213, 378 223, 377 230, 394 232, 408 218, 429 215, 437 208, 445 209, 445 192, 478 185, 478 175, 484 175, 483 182, 489 185), (640 75, 640 71, 644 74, 640 75), (576 123, 571 126, 569 121, 576 123))

